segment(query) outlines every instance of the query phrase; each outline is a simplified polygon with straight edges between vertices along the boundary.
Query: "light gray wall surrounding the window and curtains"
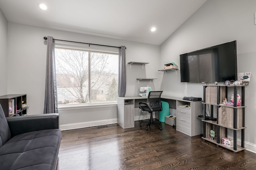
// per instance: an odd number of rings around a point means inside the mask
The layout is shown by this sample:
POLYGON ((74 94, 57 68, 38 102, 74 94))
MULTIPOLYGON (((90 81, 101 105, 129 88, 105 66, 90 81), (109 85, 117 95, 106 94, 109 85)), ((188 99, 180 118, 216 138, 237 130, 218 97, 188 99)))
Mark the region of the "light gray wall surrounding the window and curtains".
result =
MULTIPOLYGON (((27 113, 41 114, 44 107, 44 88, 46 74, 46 41, 44 36, 53 36, 56 39, 95 43, 112 46, 126 46, 126 63, 129 61, 148 62, 146 68, 141 67, 133 73, 137 66, 130 69, 127 66, 127 93, 126 96, 138 95, 139 85, 152 85, 159 89, 159 82, 140 83, 136 78, 149 76, 158 78, 156 72, 160 54, 160 46, 119 39, 110 39, 67 31, 58 31, 40 27, 8 23, 8 94, 27 94, 29 105, 27 113), (135 88, 134 88, 135 87, 135 88)), ((100 107, 88 109, 68 109, 59 111, 60 125, 92 125, 96 122, 113 122, 117 118, 117 108, 100 107)), ((115 122, 116 123, 116 122, 115 122)))

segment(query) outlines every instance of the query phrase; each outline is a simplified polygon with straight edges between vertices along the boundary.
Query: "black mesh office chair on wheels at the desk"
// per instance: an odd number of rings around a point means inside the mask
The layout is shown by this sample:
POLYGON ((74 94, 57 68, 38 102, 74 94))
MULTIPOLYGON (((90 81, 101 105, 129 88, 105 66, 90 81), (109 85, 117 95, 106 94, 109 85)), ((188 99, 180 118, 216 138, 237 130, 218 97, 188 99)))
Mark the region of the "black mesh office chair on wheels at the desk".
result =
MULTIPOLYGON (((160 102, 162 92, 163 91, 151 91, 148 93, 147 102, 139 102, 140 109, 150 113, 150 119, 146 125, 146 130, 148 130, 148 126, 155 124, 158 125, 162 131, 162 123, 160 121, 153 121, 153 111, 162 111, 162 103, 160 102)), ((142 123, 144 122, 140 122, 140 127, 142 127, 142 123)))

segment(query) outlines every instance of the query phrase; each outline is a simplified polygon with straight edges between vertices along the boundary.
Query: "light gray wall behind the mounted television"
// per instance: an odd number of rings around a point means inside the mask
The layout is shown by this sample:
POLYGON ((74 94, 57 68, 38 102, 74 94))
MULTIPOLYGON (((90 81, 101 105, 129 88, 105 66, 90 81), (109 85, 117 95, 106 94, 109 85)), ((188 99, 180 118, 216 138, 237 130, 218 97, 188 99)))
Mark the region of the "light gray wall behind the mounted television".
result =
MULTIPOLYGON (((161 45, 161 63, 174 61, 179 55, 213 45, 237 41, 238 72, 252 72, 245 96, 245 141, 256 146, 256 25, 255 0, 208 0, 174 34, 161 45)), ((170 96, 203 96, 200 83, 181 83, 180 71, 162 76, 161 89, 170 96), (171 81, 170 81, 171 80, 171 81)), ((200 113, 198 113, 200 114, 200 113)), ((239 135, 238 135, 239 137, 239 135)))

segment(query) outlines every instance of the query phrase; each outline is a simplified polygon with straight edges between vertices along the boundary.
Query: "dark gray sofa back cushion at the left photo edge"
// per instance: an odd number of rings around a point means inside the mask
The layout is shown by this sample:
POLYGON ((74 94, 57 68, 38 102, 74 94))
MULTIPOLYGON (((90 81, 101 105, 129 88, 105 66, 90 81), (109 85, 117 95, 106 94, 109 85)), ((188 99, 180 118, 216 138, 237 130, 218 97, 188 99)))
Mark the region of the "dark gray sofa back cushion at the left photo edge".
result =
POLYGON ((0 104, 0 147, 4 145, 11 138, 9 125, 6 121, 4 111, 0 104))

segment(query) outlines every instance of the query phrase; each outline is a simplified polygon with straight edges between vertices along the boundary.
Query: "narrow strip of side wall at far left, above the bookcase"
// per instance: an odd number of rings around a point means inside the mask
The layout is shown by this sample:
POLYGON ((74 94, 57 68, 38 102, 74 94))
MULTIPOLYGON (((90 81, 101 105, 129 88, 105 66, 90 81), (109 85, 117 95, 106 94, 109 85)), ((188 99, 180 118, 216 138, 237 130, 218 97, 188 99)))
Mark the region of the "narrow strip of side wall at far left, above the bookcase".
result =
POLYGON ((7 25, 0 9, 0 96, 7 94, 7 25))

